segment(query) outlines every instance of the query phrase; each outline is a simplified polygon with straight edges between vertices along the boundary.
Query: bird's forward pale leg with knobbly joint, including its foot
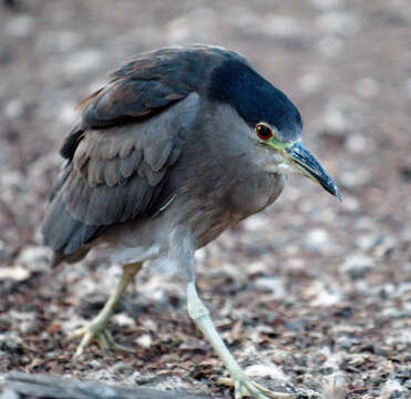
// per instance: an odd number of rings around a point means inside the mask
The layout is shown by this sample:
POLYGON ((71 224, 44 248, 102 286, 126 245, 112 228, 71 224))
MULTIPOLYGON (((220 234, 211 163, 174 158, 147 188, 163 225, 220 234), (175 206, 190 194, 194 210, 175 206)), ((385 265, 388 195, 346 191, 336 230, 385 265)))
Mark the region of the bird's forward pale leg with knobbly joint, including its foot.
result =
POLYGON ((194 282, 187 284, 187 308, 191 318, 196 326, 201 329, 204 337, 213 346, 223 364, 227 368, 233 378, 235 389, 235 399, 240 399, 243 396, 249 396, 257 399, 266 398, 289 398, 290 395, 285 392, 274 392, 257 382, 251 381, 240 369, 233 355, 224 344, 222 337, 215 329, 213 321, 209 317, 209 311, 199 299, 194 282))

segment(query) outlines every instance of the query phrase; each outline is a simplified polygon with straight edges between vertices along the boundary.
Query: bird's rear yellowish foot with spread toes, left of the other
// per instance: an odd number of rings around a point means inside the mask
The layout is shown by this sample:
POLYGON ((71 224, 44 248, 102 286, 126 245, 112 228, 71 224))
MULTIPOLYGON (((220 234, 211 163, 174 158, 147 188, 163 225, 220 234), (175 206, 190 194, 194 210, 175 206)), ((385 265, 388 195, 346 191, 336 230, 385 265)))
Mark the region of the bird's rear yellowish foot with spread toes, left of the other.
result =
POLYGON ((69 339, 75 338, 81 338, 81 341, 73 356, 74 359, 81 356, 84 352, 84 349, 92 342, 97 342, 103 352, 106 352, 109 349, 133 352, 131 348, 115 342, 111 332, 105 329, 105 325, 99 323, 99 320, 93 320, 88 326, 78 328, 71 332, 69 339))

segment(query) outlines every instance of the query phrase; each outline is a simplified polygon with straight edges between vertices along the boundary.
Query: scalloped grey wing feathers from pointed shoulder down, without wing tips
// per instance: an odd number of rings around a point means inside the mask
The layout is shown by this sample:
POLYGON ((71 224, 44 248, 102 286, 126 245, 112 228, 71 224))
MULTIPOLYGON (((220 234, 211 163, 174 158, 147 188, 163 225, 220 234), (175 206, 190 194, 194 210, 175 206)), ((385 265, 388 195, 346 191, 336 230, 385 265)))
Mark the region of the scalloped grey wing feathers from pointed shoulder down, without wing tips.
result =
POLYGON ((181 157, 182 136, 195 119, 197 98, 193 93, 138 123, 90 129, 65 166, 62 191, 71 214, 107 225, 153 208, 181 157))

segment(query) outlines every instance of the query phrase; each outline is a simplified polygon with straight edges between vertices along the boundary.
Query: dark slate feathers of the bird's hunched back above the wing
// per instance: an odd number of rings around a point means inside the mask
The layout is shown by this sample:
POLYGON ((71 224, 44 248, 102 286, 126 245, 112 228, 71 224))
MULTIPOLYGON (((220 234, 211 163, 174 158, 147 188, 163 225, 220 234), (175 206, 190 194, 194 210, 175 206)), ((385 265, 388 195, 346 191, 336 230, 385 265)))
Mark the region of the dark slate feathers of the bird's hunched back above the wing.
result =
POLYGON ((213 72, 225 61, 247 62, 235 51, 206 44, 175 45, 136 55, 79 103, 80 122, 66 136, 62 156, 71 160, 92 129, 138 123, 189 93, 206 95, 213 72))

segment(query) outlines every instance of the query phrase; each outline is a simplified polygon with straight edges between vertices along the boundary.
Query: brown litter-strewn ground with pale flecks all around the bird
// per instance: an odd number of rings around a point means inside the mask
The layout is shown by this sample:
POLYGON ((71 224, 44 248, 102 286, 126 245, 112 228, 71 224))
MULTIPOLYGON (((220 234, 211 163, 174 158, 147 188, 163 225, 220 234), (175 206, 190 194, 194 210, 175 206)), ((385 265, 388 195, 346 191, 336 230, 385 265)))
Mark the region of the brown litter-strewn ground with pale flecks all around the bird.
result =
POLYGON ((93 346, 72 362, 66 332, 95 315, 121 270, 96 257, 51 269, 38 232, 75 103, 134 53, 206 42, 238 50, 292 99, 342 194, 292 177, 276 204, 197 253, 218 329, 249 374, 300 398, 327 397, 333 382, 349 398, 410 395, 409 1, 17 4, 0 6, 1 375, 228 397, 178 278, 142 274, 125 295, 111 327, 133 354, 93 346))

